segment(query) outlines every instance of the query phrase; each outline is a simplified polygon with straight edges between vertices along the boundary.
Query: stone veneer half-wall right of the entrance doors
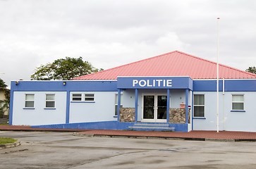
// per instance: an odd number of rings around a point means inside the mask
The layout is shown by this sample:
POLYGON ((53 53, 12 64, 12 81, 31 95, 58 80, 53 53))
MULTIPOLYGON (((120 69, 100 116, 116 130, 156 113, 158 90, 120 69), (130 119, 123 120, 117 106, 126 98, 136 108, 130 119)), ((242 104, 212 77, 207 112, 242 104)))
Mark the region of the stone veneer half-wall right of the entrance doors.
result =
MULTIPOLYGON (((185 123, 185 108, 170 108, 169 123, 185 123)), ((188 123, 190 123, 190 109, 188 110, 188 123)))

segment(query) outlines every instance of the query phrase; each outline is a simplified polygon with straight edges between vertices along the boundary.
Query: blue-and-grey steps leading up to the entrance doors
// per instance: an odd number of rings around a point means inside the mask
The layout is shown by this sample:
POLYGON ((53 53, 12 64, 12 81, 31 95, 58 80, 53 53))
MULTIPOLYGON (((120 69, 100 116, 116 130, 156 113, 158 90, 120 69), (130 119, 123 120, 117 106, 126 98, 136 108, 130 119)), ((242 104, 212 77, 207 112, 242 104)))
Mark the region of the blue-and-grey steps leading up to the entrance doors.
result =
POLYGON ((143 130, 143 131, 174 131, 174 127, 169 127, 169 124, 159 123, 135 123, 128 127, 129 130, 143 130))

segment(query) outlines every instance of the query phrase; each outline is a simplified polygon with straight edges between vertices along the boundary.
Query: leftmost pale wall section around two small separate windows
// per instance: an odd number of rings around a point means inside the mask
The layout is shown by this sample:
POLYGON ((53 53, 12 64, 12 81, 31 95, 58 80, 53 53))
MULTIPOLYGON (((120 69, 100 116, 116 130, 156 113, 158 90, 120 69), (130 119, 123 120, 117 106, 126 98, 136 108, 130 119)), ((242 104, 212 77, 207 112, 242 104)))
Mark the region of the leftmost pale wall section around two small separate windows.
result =
POLYGON ((66 123, 66 92, 14 92, 13 125, 66 123), (35 94, 35 109, 25 108, 25 94, 35 94), (55 94, 56 109, 45 108, 45 94, 55 94))

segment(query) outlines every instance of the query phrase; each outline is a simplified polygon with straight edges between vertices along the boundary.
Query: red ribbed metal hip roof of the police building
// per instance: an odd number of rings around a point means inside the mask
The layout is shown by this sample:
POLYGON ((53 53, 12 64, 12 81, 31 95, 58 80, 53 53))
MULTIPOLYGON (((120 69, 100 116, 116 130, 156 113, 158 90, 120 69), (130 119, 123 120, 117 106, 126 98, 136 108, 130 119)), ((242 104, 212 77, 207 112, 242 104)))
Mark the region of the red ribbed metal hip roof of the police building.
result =
MULTIPOLYGON (((118 76, 189 76, 192 79, 216 79, 217 63, 181 51, 136 61, 73 80, 116 80, 118 76)), ((255 79, 256 75, 219 64, 219 78, 255 79)))

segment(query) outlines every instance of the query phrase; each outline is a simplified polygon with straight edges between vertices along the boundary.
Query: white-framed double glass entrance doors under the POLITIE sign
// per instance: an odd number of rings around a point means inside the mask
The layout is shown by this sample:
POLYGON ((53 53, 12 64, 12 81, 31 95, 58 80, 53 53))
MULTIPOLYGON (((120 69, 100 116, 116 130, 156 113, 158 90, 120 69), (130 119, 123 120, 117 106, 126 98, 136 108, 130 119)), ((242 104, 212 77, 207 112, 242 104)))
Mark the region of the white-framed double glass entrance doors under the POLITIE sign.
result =
POLYGON ((166 95, 143 94, 142 103, 142 122, 166 122, 166 95))

